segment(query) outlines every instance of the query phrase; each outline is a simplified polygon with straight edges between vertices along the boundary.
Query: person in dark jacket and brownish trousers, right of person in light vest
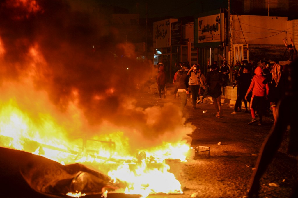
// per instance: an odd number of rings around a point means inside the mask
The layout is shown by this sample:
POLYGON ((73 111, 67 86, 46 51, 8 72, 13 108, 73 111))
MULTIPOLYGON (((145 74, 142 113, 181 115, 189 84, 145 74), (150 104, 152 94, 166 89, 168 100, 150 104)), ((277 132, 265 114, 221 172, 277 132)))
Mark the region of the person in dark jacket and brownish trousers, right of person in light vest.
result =
POLYGON ((212 65, 211 71, 207 72, 206 83, 209 86, 208 93, 212 97, 213 104, 216 110, 216 117, 223 115, 221 108, 221 86, 224 85, 221 74, 218 72, 217 67, 212 65))

